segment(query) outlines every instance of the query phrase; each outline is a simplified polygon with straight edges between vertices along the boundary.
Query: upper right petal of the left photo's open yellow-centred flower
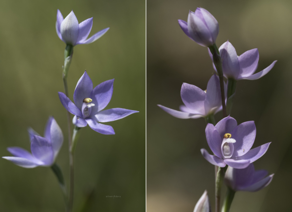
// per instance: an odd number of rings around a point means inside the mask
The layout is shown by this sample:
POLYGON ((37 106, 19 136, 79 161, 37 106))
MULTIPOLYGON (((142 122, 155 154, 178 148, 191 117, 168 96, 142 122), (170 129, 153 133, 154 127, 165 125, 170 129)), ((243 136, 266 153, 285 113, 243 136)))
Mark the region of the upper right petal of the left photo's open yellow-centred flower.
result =
POLYGON ((97 85, 91 92, 94 107, 92 107, 91 114, 94 116, 97 112, 103 110, 110 102, 113 91, 113 80, 110 79, 97 85))

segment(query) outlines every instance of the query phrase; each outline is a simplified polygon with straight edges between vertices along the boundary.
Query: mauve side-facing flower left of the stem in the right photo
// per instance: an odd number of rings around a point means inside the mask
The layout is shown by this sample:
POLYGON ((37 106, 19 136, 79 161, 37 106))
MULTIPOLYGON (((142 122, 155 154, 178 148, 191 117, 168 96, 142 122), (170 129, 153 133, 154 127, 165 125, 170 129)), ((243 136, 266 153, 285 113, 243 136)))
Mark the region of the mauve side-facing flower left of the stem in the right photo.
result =
POLYGON ((195 85, 183 83, 181 96, 184 103, 180 106, 181 111, 158 106, 171 116, 183 119, 206 117, 222 110, 220 82, 215 74, 209 79, 206 92, 195 85))

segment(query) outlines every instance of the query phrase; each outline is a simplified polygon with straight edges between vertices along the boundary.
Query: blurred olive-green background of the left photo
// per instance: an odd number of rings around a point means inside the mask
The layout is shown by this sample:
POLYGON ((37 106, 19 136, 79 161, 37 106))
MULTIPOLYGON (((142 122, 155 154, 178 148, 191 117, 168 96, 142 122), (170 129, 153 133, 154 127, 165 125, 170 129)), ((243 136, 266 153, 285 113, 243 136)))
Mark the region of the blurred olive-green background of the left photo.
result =
MULTIPOLYGON (((57 9, 64 18, 73 9, 79 22, 93 17, 90 36, 110 27, 95 42, 75 46, 68 77, 70 98, 86 69, 93 86, 115 78, 106 109, 140 111, 108 123, 116 135, 82 129, 75 154, 74 212, 145 211, 144 0, 1 0, 0 156, 10 155, 9 146, 30 150, 27 127, 43 135, 53 115, 65 137, 57 163, 69 177, 66 111, 57 95, 63 92, 66 45, 55 32, 57 9)), ((1 159, 0 211, 64 211, 51 169, 24 169, 1 159)))

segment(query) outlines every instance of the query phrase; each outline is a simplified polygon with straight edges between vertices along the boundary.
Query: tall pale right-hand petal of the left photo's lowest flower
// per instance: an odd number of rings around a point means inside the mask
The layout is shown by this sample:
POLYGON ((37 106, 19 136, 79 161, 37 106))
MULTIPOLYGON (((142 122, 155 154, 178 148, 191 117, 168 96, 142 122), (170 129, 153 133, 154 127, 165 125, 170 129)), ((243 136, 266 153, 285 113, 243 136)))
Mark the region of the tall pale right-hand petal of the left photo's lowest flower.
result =
POLYGON ((52 144, 55 158, 62 147, 64 137, 61 128, 53 116, 51 116, 47 122, 44 135, 52 144))

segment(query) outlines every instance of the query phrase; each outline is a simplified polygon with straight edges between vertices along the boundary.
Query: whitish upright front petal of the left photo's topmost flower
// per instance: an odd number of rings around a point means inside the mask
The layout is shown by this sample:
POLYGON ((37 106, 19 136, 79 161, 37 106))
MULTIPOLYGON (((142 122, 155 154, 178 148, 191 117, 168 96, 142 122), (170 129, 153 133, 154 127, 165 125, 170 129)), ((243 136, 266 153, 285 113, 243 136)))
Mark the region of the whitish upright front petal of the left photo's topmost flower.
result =
POLYGON ((79 36, 79 24, 75 14, 73 13, 73 10, 62 21, 60 32, 65 43, 71 44, 73 46, 76 44, 79 36))

